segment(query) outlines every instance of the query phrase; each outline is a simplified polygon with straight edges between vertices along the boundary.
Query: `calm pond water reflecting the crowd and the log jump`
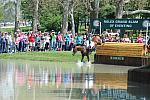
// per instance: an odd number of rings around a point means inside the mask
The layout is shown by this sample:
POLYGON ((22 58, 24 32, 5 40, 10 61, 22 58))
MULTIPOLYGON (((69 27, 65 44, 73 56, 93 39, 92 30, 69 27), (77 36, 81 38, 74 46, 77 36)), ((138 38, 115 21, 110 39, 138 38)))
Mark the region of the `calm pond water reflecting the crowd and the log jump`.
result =
POLYGON ((128 84, 130 68, 0 60, 0 100, 149 100, 147 86, 128 84))

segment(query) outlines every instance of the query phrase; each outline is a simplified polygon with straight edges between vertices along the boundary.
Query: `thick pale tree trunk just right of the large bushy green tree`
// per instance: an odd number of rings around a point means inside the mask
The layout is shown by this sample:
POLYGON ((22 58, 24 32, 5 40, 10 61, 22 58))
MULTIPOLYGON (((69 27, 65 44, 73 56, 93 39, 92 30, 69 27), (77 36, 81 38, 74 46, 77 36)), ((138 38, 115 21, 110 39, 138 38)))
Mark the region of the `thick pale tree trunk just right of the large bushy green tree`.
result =
POLYGON ((62 33, 65 34, 68 31, 69 0, 64 0, 63 6, 62 33))

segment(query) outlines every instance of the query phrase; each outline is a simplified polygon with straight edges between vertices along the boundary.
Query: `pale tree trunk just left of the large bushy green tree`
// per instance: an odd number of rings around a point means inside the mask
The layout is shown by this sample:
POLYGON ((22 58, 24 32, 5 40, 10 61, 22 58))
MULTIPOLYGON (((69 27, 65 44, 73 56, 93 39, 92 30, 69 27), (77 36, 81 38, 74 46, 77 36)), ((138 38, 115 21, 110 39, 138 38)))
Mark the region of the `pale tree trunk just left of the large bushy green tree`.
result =
POLYGON ((33 19, 32 19, 32 31, 33 33, 37 32, 37 25, 38 25, 38 6, 39 0, 33 0, 33 19))

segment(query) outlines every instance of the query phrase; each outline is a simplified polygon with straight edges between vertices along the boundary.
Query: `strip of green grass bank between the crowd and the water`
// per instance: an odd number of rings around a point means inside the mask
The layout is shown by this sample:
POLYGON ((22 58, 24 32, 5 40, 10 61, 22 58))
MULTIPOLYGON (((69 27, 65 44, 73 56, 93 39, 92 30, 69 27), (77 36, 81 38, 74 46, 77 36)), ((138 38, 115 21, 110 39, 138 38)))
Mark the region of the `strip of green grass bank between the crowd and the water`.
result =
MULTIPOLYGON (((16 59, 16 60, 32 60, 32 61, 53 61, 53 62, 77 62, 81 60, 81 54, 77 53, 72 56, 72 52, 22 52, 12 54, 0 54, 0 59, 16 59)), ((90 60, 93 61, 94 53, 90 55, 90 60)), ((87 61, 87 58, 84 58, 87 61)))

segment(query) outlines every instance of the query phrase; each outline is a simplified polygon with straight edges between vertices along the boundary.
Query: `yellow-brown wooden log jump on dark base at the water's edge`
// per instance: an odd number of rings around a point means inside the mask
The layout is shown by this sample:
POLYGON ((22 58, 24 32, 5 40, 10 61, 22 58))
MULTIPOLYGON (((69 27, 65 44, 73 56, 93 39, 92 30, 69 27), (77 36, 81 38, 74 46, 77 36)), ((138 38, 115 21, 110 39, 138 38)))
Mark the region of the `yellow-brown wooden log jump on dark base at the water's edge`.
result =
POLYGON ((150 63, 143 43, 106 42, 97 45, 94 62, 99 64, 141 66, 150 63))

